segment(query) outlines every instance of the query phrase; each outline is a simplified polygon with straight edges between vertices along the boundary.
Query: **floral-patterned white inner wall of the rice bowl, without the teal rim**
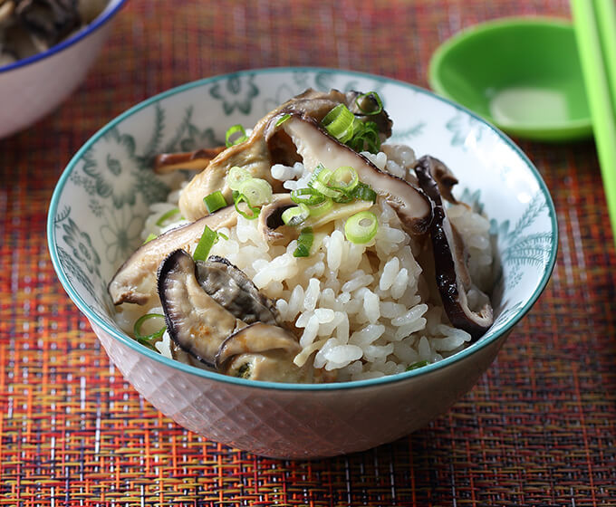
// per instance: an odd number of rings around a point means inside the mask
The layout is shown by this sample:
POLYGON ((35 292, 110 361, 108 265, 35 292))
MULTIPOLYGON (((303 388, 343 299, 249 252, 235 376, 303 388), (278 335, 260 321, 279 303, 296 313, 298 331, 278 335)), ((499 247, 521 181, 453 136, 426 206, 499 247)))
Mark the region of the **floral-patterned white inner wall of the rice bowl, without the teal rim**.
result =
MULTIPOLYGON (((400 103, 412 103, 408 116, 399 115, 399 120, 394 120, 392 140, 409 142, 418 156, 429 153, 439 157, 446 152, 446 159, 468 167, 476 163, 476 151, 484 145, 497 143, 505 148, 505 155, 509 149, 513 156, 493 160, 496 169, 490 169, 496 180, 500 178, 499 182, 488 185, 480 181, 483 190, 475 188, 463 193, 463 200, 478 211, 484 209, 482 196, 489 197, 486 193, 482 195, 486 188, 506 188, 520 171, 532 172, 515 149, 508 148, 508 141, 499 138, 481 120, 428 97, 423 91, 406 88, 401 100, 397 94, 403 85, 348 72, 237 72, 150 101, 145 108, 104 130, 72 164, 52 211, 57 261, 75 291, 100 314, 101 320, 111 322, 112 305, 106 284, 120 263, 142 242, 140 231, 149 206, 168 195, 168 178, 151 170, 157 153, 218 146, 231 125, 242 123, 250 127, 266 111, 306 88, 327 91, 332 87, 340 91, 377 91, 386 100, 388 110, 390 100, 398 107, 400 103), (186 100, 177 100, 185 93, 186 100), (427 103, 430 109, 422 110, 427 103), (438 114, 434 114, 435 108, 440 108, 438 114), (467 142, 471 138, 474 143, 467 142)), ((457 173, 457 167, 452 168, 457 173)), ((460 180, 467 181, 465 177, 460 180)), ((528 180, 535 185, 534 176, 528 180)), ((534 286, 535 279, 551 269, 555 233, 549 197, 536 186, 525 187, 525 192, 530 200, 526 206, 516 203, 514 218, 509 220, 503 216, 511 216, 511 211, 498 210, 494 198, 491 203, 486 199, 487 214, 492 213, 494 218, 497 212, 491 232, 498 242, 503 273, 503 298, 496 308, 495 329, 505 326, 525 305, 529 297, 526 287, 534 286)))

